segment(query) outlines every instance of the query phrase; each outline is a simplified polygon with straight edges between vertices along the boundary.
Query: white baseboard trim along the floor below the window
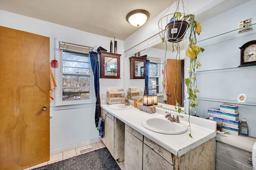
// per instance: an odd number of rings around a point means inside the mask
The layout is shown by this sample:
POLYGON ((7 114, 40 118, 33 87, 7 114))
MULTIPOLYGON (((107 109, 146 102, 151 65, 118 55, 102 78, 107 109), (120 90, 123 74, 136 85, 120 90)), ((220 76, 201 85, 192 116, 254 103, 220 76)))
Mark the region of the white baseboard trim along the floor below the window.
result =
POLYGON ((84 142, 81 142, 81 143, 68 145, 66 147, 50 150, 50 155, 57 154, 57 153, 60 153, 60 152, 64 152, 64 151, 67 151, 67 150, 70 150, 70 149, 79 148, 79 147, 82 147, 82 146, 85 146, 85 145, 90 145, 92 143, 96 143, 96 142, 100 142, 100 141, 101 141, 101 139, 100 139, 100 137, 98 137, 96 139, 92 139, 92 140, 89 140, 89 141, 84 141, 84 142))

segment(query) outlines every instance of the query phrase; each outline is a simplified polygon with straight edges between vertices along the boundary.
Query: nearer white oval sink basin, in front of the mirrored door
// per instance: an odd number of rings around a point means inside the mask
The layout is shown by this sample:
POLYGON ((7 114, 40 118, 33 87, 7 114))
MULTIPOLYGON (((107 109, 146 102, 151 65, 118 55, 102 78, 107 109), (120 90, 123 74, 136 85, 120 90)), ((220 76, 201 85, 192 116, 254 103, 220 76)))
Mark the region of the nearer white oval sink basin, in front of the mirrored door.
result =
POLYGON ((175 123, 165 117, 148 118, 142 121, 141 124, 150 131, 168 135, 177 135, 188 131, 188 125, 175 123))

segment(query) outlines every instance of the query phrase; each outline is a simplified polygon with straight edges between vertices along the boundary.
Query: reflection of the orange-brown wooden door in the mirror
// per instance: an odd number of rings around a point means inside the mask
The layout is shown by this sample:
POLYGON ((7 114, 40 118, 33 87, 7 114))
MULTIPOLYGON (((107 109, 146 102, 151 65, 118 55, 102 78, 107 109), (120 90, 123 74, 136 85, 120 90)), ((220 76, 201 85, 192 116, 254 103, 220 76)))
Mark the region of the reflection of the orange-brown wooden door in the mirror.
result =
POLYGON ((177 102, 183 107, 184 100, 184 60, 167 59, 167 104, 176 105, 177 102))

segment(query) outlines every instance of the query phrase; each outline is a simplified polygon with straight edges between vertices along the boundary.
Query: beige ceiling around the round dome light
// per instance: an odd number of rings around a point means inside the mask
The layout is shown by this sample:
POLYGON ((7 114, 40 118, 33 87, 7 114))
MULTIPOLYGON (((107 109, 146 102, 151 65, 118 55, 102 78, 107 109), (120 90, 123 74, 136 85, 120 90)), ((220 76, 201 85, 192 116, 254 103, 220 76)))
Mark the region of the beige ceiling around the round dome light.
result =
POLYGON ((176 0, 0 0, 0 9, 124 40, 140 28, 126 21, 129 12, 146 10, 150 21, 171 2, 176 0))

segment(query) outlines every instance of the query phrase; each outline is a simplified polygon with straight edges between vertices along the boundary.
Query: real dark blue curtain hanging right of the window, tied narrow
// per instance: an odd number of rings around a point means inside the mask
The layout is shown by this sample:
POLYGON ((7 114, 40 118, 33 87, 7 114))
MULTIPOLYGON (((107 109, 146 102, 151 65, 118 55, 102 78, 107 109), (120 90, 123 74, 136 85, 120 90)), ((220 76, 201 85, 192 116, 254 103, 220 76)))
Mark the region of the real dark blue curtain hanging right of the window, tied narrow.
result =
POLYGON ((92 64, 92 72, 94 75, 94 88, 95 88, 95 95, 96 95, 95 126, 98 127, 98 122, 100 117, 100 82, 99 82, 98 53, 91 51, 90 60, 92 64))

